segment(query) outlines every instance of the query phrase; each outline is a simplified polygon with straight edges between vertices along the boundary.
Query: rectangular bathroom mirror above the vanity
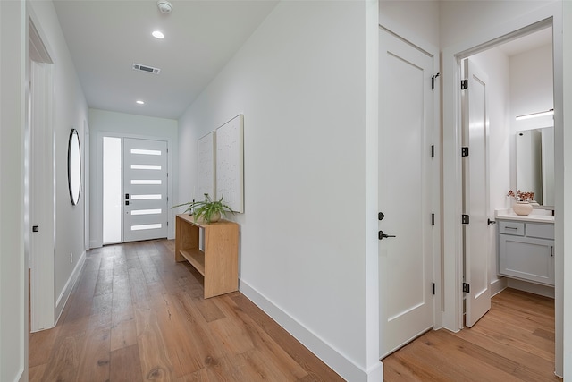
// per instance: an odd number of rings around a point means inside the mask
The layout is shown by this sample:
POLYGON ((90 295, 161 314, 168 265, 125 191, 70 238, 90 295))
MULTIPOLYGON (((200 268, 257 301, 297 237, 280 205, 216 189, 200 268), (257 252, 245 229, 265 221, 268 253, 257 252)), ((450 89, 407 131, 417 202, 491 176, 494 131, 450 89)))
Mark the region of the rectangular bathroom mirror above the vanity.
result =
POLYGON ((554 128, 517 132, 517 190, 534 192, 543 206, 554 206, 554 128))

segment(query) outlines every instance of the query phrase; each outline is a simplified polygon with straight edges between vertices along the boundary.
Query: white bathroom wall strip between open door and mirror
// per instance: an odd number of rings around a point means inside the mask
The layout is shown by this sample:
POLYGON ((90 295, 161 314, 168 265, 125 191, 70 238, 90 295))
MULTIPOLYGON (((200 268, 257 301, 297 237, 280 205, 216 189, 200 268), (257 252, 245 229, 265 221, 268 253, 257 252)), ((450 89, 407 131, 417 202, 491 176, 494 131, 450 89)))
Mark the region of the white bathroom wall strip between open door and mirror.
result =
MULTIPOLYGON (((470 57, 483 70, 487 82, 489 116, 489 217, 494 219, 494 210, 507 208, 506 194, 510 190, 511 150, 514 133, 510 132, 510 72, 509 57, 498 49, 486 50, 470 57), (512 140, 511 140, 512 139, 512 140), (512 143, 511 143, 512 142, 512 143)), ((497 276, 496 230, 489 230, 489 273, 491 284, 497 276)))

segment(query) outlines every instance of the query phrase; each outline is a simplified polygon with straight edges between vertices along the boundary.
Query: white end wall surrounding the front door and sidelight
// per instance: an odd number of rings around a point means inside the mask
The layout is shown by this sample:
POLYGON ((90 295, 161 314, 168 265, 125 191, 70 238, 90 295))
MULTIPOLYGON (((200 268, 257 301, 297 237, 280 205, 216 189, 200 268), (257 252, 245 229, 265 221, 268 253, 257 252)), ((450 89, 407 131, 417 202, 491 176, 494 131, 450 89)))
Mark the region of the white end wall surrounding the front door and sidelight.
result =
MULTIPOLYGON (((169 206, 176 203, 179 191, 179 146, 177 144, 177 121, 144 115, 128 115, 98 109, 89 109, 89 137, 91 154, 90 206, 89 206, 89 246, 103 245, 103 189, 102 189, 102 141, 105 134, 131 138, 167 140, 170 157, 169 166, 169 206), (172 159, 172 160, 171 160, 172 159), (173 201, 174 200, 174 201, 173 201)), ((186 175, 183 174, 183 178, 186 175)), ((174 213, 168 211, 168 238, 174 237, 174 213)))

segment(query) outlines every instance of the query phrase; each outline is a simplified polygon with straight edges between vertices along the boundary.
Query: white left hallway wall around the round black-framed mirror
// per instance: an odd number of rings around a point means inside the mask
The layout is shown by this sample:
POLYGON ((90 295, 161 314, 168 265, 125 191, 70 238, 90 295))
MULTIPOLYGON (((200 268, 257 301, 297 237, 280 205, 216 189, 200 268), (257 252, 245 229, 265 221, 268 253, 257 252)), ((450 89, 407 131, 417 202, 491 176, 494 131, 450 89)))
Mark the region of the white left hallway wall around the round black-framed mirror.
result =
MULTIPOLYGON (((46 38, 49 54, 55 64, 54 75, 54 127, 55 127, 55 318, 58 318, 69 293, 74 276, 77 276, 84 250, 84 206, 80 201, 71 205, 68 189, 68 140, 71 129, 80 133, 83 147, 84 121, 88 119, 88 105, 80 86, 71 55, 63 38, 54 4, 45 1, 29 2, 30 12, 35 16, 38 30, 46 38), (73 262, 70 261, 73 254, 73 262), (74 273, 75 272, 75 273, 74 273)), ((49 159, 47 159, 49 160, 49 159)), ((82 157, 85 160, 85 157, 82 157)))

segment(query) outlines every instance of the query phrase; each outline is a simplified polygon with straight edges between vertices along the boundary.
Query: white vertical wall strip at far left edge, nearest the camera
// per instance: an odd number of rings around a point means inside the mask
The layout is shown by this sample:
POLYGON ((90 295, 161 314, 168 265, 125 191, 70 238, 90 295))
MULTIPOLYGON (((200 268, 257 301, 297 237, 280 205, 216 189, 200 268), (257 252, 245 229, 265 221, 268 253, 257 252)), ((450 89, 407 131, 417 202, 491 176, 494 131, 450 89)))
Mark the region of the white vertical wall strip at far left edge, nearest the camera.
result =
POLYGON ((24 258, 26 9, 0 2, 0 380, 28 380, 28 262, 24 258))

